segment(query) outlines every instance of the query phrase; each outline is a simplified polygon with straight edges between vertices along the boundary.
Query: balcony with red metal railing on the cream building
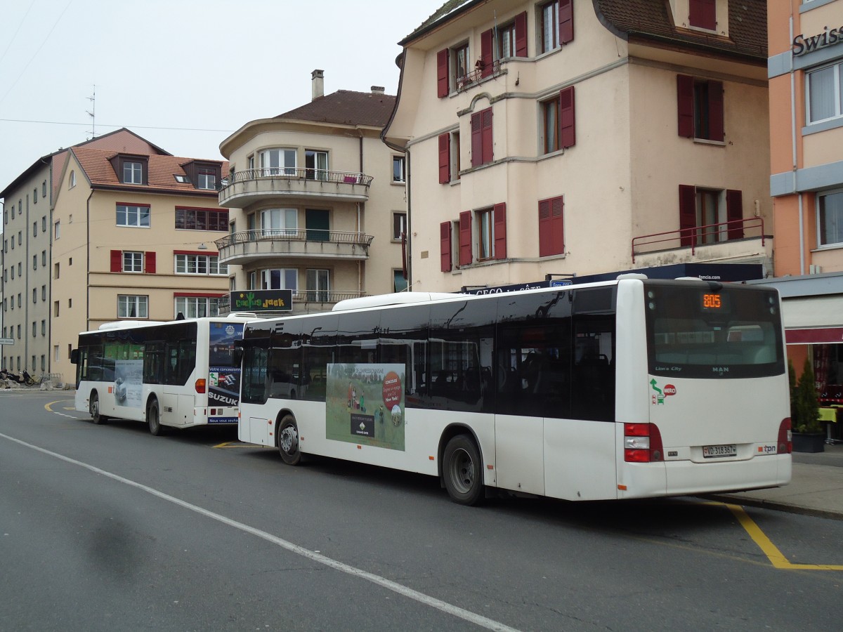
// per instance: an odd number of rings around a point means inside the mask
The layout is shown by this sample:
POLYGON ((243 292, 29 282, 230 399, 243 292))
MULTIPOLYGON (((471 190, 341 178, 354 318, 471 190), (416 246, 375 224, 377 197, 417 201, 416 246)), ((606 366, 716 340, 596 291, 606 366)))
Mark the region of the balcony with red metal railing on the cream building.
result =
POLYGON ((772 237, 764 219, 748 217, 632 238, 632 263, 638 266, 718 261, 771 260, 772 237))

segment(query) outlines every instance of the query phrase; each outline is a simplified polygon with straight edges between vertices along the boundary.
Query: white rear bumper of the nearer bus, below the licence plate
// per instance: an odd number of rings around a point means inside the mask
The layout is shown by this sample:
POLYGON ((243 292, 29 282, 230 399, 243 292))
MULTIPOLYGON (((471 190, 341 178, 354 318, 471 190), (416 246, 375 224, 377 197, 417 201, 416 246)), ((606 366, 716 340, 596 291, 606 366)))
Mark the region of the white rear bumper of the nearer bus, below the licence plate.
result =
POLYGON ((623 485, 618 485, 618 498, 701 495, 781 487, 790 482, 791 472, 790 454, 717 463, 624 463, 625 481, 623 485))

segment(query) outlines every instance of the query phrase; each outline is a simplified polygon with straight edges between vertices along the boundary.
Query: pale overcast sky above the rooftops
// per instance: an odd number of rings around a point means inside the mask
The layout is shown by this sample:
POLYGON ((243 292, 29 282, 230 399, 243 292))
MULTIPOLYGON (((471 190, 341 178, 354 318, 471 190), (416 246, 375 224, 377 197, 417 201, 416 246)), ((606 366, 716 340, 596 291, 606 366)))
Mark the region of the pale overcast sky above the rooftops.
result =
POLYGON ((0 190, 41 156, 119 127, 175 156, 222 158, 240 126, 308 103, 316 68, 325 94, 396 94, 397 42, 443 3, 4 3, 0 190))

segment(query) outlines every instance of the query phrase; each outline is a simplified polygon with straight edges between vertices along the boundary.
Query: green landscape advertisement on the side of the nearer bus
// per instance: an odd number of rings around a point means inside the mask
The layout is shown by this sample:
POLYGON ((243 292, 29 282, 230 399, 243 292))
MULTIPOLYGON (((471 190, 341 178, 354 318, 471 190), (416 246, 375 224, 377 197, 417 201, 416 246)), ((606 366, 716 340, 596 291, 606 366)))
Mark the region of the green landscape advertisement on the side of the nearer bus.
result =
POLYGON ((325 438, 404 450, 403 364, 328 365, 325 438))

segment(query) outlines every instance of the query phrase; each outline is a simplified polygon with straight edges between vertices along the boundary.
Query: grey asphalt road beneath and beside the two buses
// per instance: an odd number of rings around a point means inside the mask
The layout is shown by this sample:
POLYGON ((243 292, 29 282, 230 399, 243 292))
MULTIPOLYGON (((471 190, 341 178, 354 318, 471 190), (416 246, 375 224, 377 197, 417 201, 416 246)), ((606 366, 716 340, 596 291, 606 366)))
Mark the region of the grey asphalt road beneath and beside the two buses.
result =
POLYGON ((0 393, 0 630, 828 630, 841 583, 843 521, 464 507, 415 474, 285 466, 234 429, 152 437, 72 394, 0 393))

